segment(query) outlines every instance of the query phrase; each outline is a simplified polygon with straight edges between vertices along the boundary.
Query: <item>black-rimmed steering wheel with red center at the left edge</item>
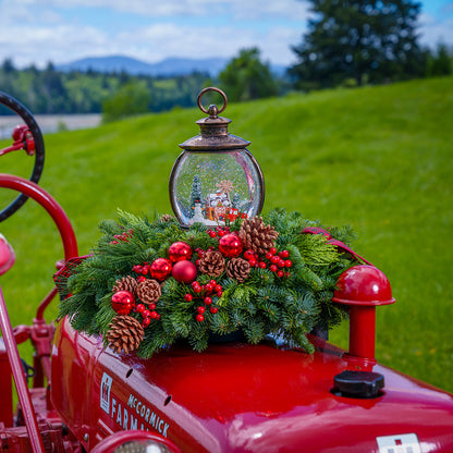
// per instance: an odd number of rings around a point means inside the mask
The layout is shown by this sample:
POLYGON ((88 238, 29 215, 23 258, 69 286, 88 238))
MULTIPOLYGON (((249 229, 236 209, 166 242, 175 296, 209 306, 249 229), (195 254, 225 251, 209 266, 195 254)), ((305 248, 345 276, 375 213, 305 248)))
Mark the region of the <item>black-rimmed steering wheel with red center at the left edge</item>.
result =
MULTIPOLYGON (((0 103, 8 107, 25 122, 25 124, 14 127, 12 133, 14 143, 8 148, 0 149, 0 156, 19 149, 24 149, 28 156, 35 156, 35 166, 29 181, 38 183, 42 173, 45 155, 41 130, 30 111, 12 96, 0 91, 0 103)), ((13 215, 27 199, 26 195, 19 195, 9 206, 0 211, 0 222, 13 215)))

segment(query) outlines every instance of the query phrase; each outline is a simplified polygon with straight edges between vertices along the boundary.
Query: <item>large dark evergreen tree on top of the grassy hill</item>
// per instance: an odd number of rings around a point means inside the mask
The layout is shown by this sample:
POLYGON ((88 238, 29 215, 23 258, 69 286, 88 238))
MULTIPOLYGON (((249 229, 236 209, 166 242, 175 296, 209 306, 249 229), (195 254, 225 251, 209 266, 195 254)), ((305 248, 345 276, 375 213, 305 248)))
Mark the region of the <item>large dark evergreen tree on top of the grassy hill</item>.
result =
POLYGON ((382 83, 423 76, 417 44, 420 3, 413 0, 310 0, 313 19, 290 70, 298 88, 352 81, 382 83))

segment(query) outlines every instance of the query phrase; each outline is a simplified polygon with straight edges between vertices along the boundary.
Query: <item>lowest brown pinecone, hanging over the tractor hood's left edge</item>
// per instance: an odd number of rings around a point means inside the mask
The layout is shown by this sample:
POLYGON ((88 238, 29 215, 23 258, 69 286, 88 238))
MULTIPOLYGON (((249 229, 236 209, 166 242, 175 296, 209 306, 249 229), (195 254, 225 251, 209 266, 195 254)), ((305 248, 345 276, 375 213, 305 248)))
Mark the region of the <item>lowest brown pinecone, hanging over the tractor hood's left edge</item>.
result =
POLYGON ((126 354, 135 351, 140 344, 145 332, 142 325, 132 316, 118 315, 109 325, 107 340, 115 353, 126 354))

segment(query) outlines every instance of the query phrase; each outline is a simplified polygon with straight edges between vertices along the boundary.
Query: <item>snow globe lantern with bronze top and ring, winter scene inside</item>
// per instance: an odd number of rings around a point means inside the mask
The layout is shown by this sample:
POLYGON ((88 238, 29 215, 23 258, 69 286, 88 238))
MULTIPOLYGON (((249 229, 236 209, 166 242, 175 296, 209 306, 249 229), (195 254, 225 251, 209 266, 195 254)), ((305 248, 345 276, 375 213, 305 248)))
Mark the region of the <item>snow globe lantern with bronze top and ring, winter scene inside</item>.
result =
POLYGON ((223 225, 237 217, 260 213, 265 200, 261 169, 246 146, 250 144, 231 135, 231 120, 219 117, 226 107, 225 94, 215 87, 198 95, 199 109, 209 117, 198 120, 200 134, 180 145, 183 152, 174 162, 170 175, 170 200, 181 225, 194 223, 223 225), (219 93, 223 106, 206 109, 201 97, 207 91, 219 93))

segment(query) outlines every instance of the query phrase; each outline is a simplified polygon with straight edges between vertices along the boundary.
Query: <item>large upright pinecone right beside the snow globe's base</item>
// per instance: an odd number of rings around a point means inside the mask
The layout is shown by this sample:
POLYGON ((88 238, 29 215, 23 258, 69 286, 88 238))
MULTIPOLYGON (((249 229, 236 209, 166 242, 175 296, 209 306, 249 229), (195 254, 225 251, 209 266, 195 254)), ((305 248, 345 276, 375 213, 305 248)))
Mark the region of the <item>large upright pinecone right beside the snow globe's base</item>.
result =
POLYGON ((242 222, 238 232, 244 247, 252 248, 258 255, 266 255, 276 246, 279 233, 271 225, 265 225, 261 217, 253 217, 242 222))

